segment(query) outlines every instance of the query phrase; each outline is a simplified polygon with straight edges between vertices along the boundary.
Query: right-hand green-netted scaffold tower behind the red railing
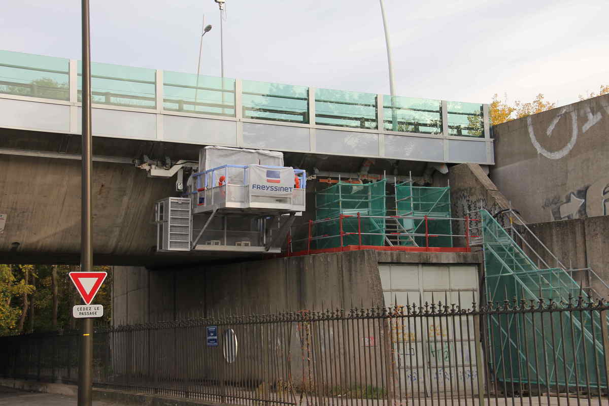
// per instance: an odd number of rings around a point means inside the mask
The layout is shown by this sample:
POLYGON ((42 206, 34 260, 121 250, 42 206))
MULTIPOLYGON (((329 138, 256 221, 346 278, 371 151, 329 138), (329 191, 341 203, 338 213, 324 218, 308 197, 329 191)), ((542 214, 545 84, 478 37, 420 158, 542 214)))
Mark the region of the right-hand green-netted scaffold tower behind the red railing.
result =
POLYGON ((396 219, 398 228, 403 229, 397 245, 452 247, 450 187, 414 186, 411 176, 403 183, 395 183, 395 210, 398 216, 415 217, 396 219), (428 221, 428 217, 434 221, 428 221), (426 241, 426 237, 408 234, 432 237, 426 241))

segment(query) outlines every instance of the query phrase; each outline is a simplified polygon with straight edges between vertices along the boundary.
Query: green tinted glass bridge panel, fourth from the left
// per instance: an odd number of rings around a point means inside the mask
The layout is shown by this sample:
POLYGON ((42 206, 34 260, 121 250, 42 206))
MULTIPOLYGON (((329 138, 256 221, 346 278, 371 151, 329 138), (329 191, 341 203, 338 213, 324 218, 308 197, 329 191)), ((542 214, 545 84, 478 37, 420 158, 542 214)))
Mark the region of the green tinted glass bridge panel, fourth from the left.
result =
POLYGON ((243 117, 298 123, 309 122, 309 88, 244 80, 243 117))

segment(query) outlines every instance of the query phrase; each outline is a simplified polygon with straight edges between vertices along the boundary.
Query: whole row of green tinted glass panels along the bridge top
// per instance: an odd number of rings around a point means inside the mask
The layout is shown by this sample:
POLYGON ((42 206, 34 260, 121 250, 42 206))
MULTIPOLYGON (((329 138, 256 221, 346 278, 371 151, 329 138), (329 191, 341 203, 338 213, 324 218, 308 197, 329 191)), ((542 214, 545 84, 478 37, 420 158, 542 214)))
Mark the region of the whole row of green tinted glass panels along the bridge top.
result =
MULTIPOLYGON (((80 61, 0 51, 0 93, 80 102, 81 88, 80 61)), ((263 121, 423 135, 490 136, 485 130, 488 116, 482 103, 401 96, 392 102, 390 96, 373 93, 197 77, 107 63, 92 64, 91 89, 94 105, 224 117, 237 117, 239 112, 244 119, 263 121)))

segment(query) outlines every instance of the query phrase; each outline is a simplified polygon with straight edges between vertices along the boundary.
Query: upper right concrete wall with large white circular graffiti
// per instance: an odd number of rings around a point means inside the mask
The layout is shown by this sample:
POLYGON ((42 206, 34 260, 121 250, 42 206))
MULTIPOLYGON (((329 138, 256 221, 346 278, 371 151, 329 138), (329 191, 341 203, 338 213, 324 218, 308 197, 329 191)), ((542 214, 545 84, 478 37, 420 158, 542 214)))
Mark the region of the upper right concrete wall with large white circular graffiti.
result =
POLYGON ((609 94, 496 125, 493 134, 491 179, 528 221, 609 214, 609 94))

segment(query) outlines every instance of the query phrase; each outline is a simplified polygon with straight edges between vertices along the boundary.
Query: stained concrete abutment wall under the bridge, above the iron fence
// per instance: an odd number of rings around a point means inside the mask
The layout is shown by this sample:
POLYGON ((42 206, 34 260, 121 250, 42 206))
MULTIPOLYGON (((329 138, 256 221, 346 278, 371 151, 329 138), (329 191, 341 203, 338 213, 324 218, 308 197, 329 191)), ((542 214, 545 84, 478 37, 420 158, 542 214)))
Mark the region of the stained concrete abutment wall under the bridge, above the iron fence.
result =
POLYGON ((372 250, 147 270, 113 267, 114 325, 231 313, 384 306, 379 262, 477 264, 479 253, 372 250), (322 306, 323 305, 323 306, 322 306))

